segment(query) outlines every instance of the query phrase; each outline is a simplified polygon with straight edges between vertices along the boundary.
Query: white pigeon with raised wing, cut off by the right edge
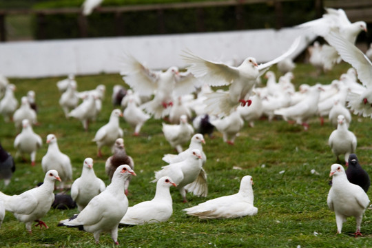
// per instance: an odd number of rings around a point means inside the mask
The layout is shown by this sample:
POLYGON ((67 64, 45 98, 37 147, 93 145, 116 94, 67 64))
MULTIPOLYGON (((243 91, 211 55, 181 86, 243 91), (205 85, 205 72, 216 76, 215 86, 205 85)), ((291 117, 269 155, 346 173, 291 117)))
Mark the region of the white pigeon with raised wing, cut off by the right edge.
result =
POLYGON ((342 38, 339 34, 331 32, 327 41, 338 51, 344 61, 351 64, 358 72, 358 79, 365 89, 362 93, 348 95, 348 107, 354 114, 372 116, 372 63, 362 51, 353 43, 342 38))

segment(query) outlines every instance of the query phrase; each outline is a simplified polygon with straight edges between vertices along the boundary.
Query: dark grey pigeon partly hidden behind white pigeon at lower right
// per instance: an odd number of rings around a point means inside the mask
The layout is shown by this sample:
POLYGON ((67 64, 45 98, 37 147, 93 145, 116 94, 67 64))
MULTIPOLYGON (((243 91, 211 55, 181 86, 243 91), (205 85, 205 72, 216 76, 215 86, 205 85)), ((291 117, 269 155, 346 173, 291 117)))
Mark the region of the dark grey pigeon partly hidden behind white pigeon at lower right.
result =
POLYGON ((364 192, 367 192, 371 182, 369 180, 368 173, 362 169, 358 162, 358 157, 355 154, 350 154, 349 156, 349 166, 347 167, 346 174, 347 179, 350 183, 359 185, 364 189, 364 192))

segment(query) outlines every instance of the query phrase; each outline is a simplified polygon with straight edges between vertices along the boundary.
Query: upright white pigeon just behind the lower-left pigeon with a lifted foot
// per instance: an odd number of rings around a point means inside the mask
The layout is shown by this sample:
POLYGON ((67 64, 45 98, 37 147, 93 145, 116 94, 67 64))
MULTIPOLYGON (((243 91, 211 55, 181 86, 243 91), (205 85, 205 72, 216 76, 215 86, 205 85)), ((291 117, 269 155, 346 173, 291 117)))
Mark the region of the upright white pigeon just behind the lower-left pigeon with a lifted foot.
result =
POLYGON ((57 138, 54 134, 48 134, 46 143, 48 144, 48 151, 41 159, 41 167, 43 168, 43 172, 55 169, 61 178, 60 187, 63 189, 65 183, 72 180, 70 158, 59 150, 57 138))

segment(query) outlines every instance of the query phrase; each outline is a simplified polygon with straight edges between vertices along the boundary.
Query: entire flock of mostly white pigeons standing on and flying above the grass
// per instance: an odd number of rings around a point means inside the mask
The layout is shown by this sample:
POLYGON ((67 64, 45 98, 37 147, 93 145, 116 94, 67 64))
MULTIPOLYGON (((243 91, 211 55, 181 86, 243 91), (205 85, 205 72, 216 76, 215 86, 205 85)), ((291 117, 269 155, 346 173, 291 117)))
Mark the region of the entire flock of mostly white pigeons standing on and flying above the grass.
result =
MULTIPOLYGON (((84 14, 90 14, 99 3, 101 1, 86 1, 84 14)), ((370 178, 358 161, 357 136, 349 128, 353 127, 355 115, 372 118, 372 46, 364 54, 354 45, 358 34, 366 31, 366 24, 363 21, 351 23, 343 10, 327 8, 320 19, 302 23, 296 28, 315 32, 327 42, 320 45, 315 41, 308 50, 309 63, 317 74, 331 71, 341 61, 349 63, 352 68, 329 84, 302 84, 296 90, 292 83, 296 64, 290 56, 298 48, 300 37, 281 56, 260 65, 253 57, 234 66, 209 61, 185 50, 181 54, 187 63, 185 71, 174 66, 160 71, 147 68, 135 54, 124 54, 120 74, 126 85, 114 85, 112 112, 110 116, 100 116, 106 124, 98 130, 92 130, 90 123, 96 122, 101 110, 107 108, 103 104, 105 85, 79 92, 73 74, 58 81, 56 87, 61 97, 56 105, 59 104, 61 118, 66 122, 72 121, 71 117, 81 121, 81 132, 96 143, 96 156, 105 161, 105 175, 96 175, 94 160, 88 156, 81 159, 81 173, 80 169, 75 172, 72 163, 75 161, 59 149, 57 138, 63 138, 59 136, 59 130, 45 137, 48 150, 37 159, 44 138, 32 128, 39 125, 37 115, 43 108, 36 104, 37 92, 30 90, 27 96, 21 97, 19 105, 14 94, 15 85, 0 75, 0 114, 4 122, 14 123, 14 132, 17 133, 14 136, 14 149, 17 151, 14 159, 0 144, 0 178, 4 180, 4 187, 12 183, 14 161, 27 161, 25 155, 30 156, 33 167, 41 165, 45 174, 39 187, 29 185, 32 189, 19 195, 0 192, 0 226, 6 211, 10 211, 17 220, 25 223, 25 229, 30 233, 34 222, 47 229, 56 225, 76 227, 93 234, 97 243, 101 233, 106 232, 118 245, 121 227, 161 223, 171 218, 174 211, 172 186, 180 192, 183 203, 187 203, 187 194, 208 197, 207 181, 216 178, 207 177, 208 167, 205 165, 209 163, 209 154, 204 148, 207 136, 214 138, 213 133, 220 132, 223 145, 229 147, 236 144, 245 122, 254 127, 258 120, 282 120, 288 125, 302 125, 303 131, 301 127, 300 132, 307 133, 311 132, 309 120, 319 117, 321 125, 324 125, 325 116, 335 130, 329 138, 324 137, 324 143, 328 141, 328 154, 333 154, 337 161, 331 165, 327 205, 335 212, 337 234, 341 233, 346 218, 354 216, 354 235, 361 236, 362 217, 370 203, 366 193, 370 178), (270 70, 273 65, 277 65, 282 74, 278 79, 270 70), (266 85, 260 83, 261 76, 267 79, 266 85), (163 143, 169 150, 174 150, 174 154, 158 154, 158 161, 151 161, 154 176, 148 187, 154 187, 151 183, 156 183, 155 196, 152 200, 131 205, 129 192, 132 193, 131 185, 136 183, 132 178, 137 174, 141 177, 141 164, 136 163, 135 172, 136 157, 127 154, 124 143, 128 132, 121 128, 121 121, 133 130, 134 138, 142 138, 145 134, 141 133, 141 128, 147 121, 156 119, 162 119, 159 128, 163 143), (94 136, 92 132, 95 132, 94 136), (185 149, 186 145, 189 146, 185 149), (108 147, 111 154, 104 154, 103 147, 108 147), (161 163, 163 166, 159 166, 161 163), (103 179, 110 184, 105 185, 103 179), (55 183, 56 180, 60 183, 55 183), (70 191, 70 195, 65 192, 54 194, 54 189, 70 191), (77 207, 78 213, 48 226, 41 218, 52 206, 56 209, 77 207)), ((220 151, 221 154, 224 152, 220 151)), ((239 179, 238 193, 184 208, 185 216, 221 219, 258 214, 258 208, 254 206, 252 176, 239 179)))

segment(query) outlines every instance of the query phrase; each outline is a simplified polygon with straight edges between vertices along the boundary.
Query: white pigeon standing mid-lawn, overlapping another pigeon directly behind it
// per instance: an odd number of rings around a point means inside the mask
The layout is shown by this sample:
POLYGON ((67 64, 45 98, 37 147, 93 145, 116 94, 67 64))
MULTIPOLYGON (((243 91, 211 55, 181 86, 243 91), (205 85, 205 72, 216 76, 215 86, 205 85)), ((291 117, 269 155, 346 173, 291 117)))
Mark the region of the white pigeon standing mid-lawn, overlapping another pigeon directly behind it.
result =
MULTIPOLYGON (((155 172, 156 179, 152 182, 156 182, 163 176, 169 176, 176 183, 183 202, 187 203, 185 186, 198 178, 202 166, 201 152, 198 149, 193 149, 184 161, 163 166, 160 171, 155 172)), ((203 185, 200 185, 200 187, 203 187, 203 185)))

